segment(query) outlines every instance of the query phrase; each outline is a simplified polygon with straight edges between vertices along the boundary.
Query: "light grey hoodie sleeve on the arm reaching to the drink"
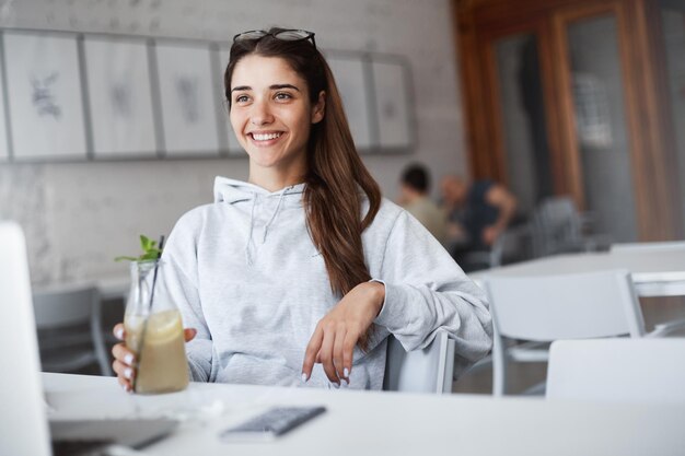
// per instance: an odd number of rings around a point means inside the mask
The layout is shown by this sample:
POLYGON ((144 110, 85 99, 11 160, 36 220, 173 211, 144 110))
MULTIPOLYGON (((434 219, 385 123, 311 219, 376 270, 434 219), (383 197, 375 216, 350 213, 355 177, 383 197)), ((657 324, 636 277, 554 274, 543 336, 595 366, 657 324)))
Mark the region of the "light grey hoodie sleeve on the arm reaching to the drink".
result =
MULTIPOLYGON (((197 215, 197 214, 195 214, 197 215)), ((193 214, 184 215, 172 231, 164 246, 164 282, 171 299, 178 307, 186 328, 197 330, 195 338, 186 343, 190 378, 195 382, 211 379, 213 346, 205 321, 199 295, 197 237, 193 214)))

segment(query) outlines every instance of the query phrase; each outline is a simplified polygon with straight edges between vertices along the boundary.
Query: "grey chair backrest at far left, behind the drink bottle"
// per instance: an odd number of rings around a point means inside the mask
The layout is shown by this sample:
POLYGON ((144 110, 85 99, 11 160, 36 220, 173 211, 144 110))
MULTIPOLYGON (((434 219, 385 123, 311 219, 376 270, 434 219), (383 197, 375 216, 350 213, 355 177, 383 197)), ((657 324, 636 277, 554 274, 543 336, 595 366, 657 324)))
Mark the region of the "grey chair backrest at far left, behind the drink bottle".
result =
POLYGON ((58 285, 34 290, 33 305, 38 329, 90 321, 100 294, 93 284, 58 285))

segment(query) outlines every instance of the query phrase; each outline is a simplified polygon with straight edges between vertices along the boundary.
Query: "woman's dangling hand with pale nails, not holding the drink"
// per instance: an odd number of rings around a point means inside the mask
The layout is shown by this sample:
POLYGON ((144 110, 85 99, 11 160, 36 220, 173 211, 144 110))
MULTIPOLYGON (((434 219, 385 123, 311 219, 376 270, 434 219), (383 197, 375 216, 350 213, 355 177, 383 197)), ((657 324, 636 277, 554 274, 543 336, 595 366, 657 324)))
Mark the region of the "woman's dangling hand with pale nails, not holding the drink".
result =
POLYGON ((316 325, 306 346, 302 379, 312 376, 314 363, 322 363, 330 382, 349 384, 352 371, 352 352, 359 338, 369 329, 385 301, 385 285, 364 282, 355 287, 316 325))

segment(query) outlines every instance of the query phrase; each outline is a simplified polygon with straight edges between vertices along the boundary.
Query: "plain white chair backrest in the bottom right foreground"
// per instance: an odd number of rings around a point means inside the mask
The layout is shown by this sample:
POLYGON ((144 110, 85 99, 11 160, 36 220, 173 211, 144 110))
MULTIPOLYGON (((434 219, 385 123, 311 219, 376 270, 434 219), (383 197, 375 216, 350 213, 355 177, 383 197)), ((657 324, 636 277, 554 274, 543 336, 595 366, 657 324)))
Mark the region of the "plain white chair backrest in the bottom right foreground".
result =
POLYGON ((552 344, 547 398, 685 404, 685 339, 560 340, 552 344))

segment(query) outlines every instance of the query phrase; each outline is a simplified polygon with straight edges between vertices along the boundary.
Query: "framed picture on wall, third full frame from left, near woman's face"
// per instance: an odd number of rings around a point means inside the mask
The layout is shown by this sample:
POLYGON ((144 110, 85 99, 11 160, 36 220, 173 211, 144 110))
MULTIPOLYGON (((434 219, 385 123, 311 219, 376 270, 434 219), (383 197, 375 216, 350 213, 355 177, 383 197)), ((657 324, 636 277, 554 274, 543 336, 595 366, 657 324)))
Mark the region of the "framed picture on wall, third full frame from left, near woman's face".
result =
POLYGON ((218 96, 209 46, 156 43, 164 150, 167 156, 218 155, 218 96))

